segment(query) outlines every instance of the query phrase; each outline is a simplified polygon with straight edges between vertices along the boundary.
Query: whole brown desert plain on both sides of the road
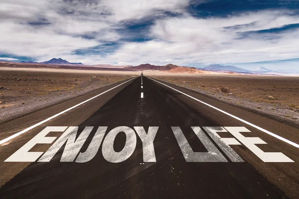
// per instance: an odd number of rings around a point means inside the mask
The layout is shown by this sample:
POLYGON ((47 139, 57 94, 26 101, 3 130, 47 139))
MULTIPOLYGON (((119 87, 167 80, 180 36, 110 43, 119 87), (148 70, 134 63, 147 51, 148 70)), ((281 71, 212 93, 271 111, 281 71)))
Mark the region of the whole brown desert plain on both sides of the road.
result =
MULTIPOLYGON (((143 74, 299 127, 299 77, 161 71, 143 71, 143 74)), ((1 65, 0 122, 140 75, 140 71, 106 68, 11 68, 1 65)))

